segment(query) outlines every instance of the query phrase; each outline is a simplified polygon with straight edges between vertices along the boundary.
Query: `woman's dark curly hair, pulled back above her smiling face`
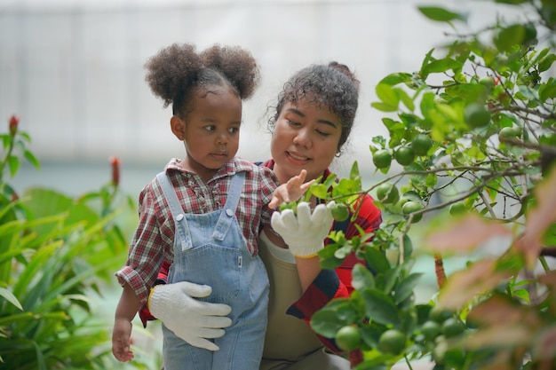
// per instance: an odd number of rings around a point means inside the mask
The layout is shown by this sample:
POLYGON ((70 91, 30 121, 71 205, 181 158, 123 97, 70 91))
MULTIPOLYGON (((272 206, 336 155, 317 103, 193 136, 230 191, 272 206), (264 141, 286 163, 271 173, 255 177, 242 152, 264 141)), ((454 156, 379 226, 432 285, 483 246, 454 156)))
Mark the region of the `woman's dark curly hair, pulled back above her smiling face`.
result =
POLYGON ((330 62, 328 65, 312 65, 292 75, 278 94, 274 115, 269 127, 274 130, 276 120, 286 103, 306 99, 321 108, 328 108, 342 123, 338 151, 346 143, 353 127, 359 104, 359 80, 346 65, 330 62))

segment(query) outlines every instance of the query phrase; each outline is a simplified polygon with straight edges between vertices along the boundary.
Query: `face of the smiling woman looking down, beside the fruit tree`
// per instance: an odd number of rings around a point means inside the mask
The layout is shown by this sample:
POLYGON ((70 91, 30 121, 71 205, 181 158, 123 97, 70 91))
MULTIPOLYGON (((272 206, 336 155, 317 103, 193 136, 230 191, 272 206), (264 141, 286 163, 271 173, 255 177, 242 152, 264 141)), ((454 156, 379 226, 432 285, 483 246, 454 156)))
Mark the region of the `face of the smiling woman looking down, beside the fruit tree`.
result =
POLYGON ((274 173, 284 184, 306 169, 306 180, 322 175, 338 152, 342 124, 336 114, 306 99, 287 103, 276 120, 270 146, 274 173))

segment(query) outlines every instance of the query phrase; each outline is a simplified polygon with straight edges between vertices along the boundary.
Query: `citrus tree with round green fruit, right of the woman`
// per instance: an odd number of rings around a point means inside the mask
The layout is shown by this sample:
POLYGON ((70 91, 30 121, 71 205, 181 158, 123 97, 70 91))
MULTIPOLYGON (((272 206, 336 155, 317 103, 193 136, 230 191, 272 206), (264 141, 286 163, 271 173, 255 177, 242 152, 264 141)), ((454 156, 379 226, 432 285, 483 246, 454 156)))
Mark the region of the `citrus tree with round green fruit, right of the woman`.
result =
POLYGON ((368 267, 356 265, 353 295, 311 322, 321 335, 350 333, 337 338, 362 351, 355 369, 417 358, 435 369, 556 366, 556 272, 546 260, 556 256, 556 4, 494 3, 523 18, 464 34, 465 14, 419 8, 455 33, 417 72, 377 84, 371 106, 387 114, 389 138, 369 149, 385 179, 353 191, 361 181, 352 170, 342 188, 353 189, 313 192, 337 201, 375 192, 383 210, 373 235, 332 233, 320 253, 323 267, 352 251, 368 267), (425 238, 413 248, 409 231, 422 218, 425 238), (439 291, 428 303, 415 302, 419 254, 434 257, 439 291), (467 264, 447 276, 447 256, 467 264))

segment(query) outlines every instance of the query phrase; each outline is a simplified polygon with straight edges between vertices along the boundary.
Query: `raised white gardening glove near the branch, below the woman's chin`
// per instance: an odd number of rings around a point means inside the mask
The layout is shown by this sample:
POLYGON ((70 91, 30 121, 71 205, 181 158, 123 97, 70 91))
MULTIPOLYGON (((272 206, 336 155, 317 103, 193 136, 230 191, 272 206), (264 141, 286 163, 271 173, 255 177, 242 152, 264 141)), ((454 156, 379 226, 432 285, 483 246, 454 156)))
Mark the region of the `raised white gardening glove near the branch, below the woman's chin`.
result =
POLYGON ((311 206, 306 201, 298 204, 298 215, 292 209, 274 212, 270 224, 275 232, 288 244, 293 256, 311 258, 324 248, 324 238, 334 222, 330 209, 336 204, 319 204, 311 214, 311 206))

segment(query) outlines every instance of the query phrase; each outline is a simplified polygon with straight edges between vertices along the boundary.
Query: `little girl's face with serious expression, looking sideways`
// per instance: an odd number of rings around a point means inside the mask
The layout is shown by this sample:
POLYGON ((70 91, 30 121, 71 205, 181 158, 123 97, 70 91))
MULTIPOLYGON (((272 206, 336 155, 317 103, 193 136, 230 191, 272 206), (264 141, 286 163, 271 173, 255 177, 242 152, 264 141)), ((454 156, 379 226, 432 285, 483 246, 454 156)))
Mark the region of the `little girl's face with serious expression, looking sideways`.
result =
POLYGON ((171 129, 186 146, 184 168, 210 179, 237 153, 242 100, 229 87, 196 91, 185 119, 174 115, 171 129))

